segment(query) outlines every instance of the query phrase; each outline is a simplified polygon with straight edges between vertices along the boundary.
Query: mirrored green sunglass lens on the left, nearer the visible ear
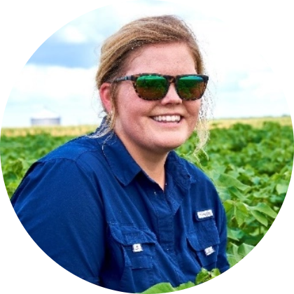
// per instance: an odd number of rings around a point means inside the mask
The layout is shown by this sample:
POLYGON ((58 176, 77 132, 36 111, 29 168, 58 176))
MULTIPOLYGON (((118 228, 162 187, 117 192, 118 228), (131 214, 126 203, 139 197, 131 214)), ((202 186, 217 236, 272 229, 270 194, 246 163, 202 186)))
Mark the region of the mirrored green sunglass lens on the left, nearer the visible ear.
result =
POLYGON ((139 97, 146 100, 158 100, 167 94, 167 79, 162 76, 139 76, 136 80, 136 90, 139 97))

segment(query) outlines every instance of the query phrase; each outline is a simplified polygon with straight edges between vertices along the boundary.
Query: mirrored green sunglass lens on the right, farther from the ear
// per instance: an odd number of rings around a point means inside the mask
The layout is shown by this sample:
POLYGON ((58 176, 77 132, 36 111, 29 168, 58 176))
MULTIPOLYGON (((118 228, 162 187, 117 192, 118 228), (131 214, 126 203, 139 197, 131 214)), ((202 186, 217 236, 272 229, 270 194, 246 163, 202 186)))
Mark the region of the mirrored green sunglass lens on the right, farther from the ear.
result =
POLYGON ((183 76, 177 81, 179 97, 184 100, 200 99, 205 91, 206 84, 200 76, 183 76))

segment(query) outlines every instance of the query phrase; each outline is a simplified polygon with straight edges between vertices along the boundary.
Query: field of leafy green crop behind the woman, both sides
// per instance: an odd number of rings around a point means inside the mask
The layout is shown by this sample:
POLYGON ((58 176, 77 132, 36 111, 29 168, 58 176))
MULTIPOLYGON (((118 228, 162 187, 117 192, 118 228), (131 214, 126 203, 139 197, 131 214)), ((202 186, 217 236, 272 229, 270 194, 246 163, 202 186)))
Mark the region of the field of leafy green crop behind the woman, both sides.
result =
MULTIPOLYGON (((78 135, 75 128, 57 129, 1 130, 1 170, 9 198, 34 160, 78 135)), ((228 258, 234 266, 258 245, 281 211, 293 171, 292 120, 216 121, 206 154, 193 155, 196 142, 193 135, 177 152, 214 181, 228 217, 228 258)))

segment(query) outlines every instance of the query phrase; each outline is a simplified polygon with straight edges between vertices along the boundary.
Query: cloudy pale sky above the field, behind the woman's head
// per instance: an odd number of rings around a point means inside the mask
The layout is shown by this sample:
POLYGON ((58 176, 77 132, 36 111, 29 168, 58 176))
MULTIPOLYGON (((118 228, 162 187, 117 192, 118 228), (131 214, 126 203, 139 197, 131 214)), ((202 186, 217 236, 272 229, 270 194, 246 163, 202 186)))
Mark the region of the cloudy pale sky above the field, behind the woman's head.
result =
POLYGON ((61 125, 98 125, 103 114, 94 76, 102 42, 131 20, 162 14, 179 15, 195 31, 215 101, 214 118, 290 116, 262 52, 225 20, 181 3, 134 0, 90 10, 45 36, 19 66, 1 127, 29 127, 44 110, 61 118, 61 125))

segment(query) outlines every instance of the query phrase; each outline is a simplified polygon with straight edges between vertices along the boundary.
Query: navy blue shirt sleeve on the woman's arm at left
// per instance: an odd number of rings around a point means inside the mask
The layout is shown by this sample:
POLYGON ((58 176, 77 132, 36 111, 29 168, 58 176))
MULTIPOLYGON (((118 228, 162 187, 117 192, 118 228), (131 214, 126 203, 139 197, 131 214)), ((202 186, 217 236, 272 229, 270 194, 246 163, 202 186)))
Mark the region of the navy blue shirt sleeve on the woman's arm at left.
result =
POLYGON ((104 260, 102 201, 75 161, 36 163, 11 199, 31 239, 58 265, 99 286, 104 260))

